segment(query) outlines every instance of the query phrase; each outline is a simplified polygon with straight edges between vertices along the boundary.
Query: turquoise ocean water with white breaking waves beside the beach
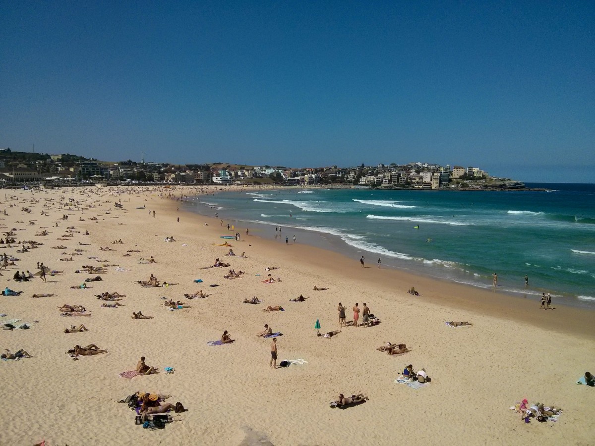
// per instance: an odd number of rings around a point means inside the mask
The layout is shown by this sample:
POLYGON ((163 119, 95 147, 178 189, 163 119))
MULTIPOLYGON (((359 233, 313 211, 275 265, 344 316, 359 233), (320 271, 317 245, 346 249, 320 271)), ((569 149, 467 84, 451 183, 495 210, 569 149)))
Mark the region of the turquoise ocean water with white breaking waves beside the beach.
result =
POLYGON ((354 262, 380 257, 383 266, 482 288, 497 272, 506 293, 546 291, 554 303, 595 308, 595 185, 527 186, 548 191, 248 190, 190 197, 186 206, 261 237, 280 226, 280 243, 296 234, 354 262))

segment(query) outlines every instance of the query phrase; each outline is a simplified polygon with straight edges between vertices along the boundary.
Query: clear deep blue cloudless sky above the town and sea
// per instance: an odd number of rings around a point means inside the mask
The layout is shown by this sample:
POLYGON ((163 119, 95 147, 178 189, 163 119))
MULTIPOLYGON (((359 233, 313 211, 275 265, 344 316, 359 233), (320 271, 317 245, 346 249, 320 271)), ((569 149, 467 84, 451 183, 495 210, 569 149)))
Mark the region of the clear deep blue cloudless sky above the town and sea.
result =
POLYGON ((595 183, 595 2, 0 0, 0 148, 595 183))

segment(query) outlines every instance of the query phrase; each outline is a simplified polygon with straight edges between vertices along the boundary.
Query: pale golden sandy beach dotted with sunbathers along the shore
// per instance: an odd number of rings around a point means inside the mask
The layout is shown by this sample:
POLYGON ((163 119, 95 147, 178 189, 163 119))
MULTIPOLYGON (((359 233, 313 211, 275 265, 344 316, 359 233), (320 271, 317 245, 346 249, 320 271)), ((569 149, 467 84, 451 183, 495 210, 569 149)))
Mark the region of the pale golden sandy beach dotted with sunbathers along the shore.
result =
POLYGON ((544 311, 534 301, 501 293, 375 264, 361 268, 358 258, 262 240, 246 235, 245 227, 228 231, 227 222, 184 212, 176 201, 199 190, 206 189, 88 187, 0 194, 0 212, 7 213, 0 213, 1 231, 15 228, 17 241, 0 245, 0 253, 20 259, 0 271, 0 280, 23 291, 0 297, 0 313, 6 315, 0 323, 20 319, 32 327, 0 331, 2 350, 22 348, 32 355, 0 361, 11 412, 0 422, 0 444, 593 444, 595 389, 575 384, 586 370, 595 372, 593 312, 544 311), (68 232, 68 227, 74 228, 68 232), (48 235, 36 235, 44 228, 48 235), (220 236, 236 231, 240 241, 227 240, 236 256, 228 257, 230 248, 218 246, 220 236), (172 235, 176 241, 167 243, 172 235), (23 240, 43 245, 17 252, 23 240), (116 240, 123 244, 112 244, 116 240), (242 252, 246 257, 239 257, 242 252), (150 256, 156 263, 139 260, 150 256), (216 258, 230 266, 201 269, 216 258), (37 262, 62 272, 48 272, 47 282, 12 279, 17 269, 39 271, 37 262), (99 274, 75 272, 83 265, 109 266, 99 274), (271 266, 278 269, 267 271, 271 266), (230 268, 245 274, 226 279, 230 268), (151 274, 175 285, 137 282, 151 274), (265 284, 267 274, 281 281, 265 284), (96 275, 102 281, 87 282, 90 289, 71 288, 96 275), (328 290, 314 291, 314 285, 328 290), (422 296, 407 294, 412 286, 422 296), (198 290, 209 296, 184 297, 198 290), (102 307, 96 295, 105 291, 125 294, 118 301, 122 306, 102 307), (33 293, 56 296, 32 299, 33 293), (305 301, 290 301, 300 294, 305 301), (189 308, 170 310, 162 297, 189 308), (243 303, 252 297, 262 303, 243 303), (354 304, 365 302, 381 323, 340 328, 339 302, 347 307, 348 322, 354 304), (61 316, 63 304, 82 305, 90 316, 61 316), (264 312, 267 306, 284 311, 264 312), (154 318, 131 319, 139 310, 154 318), (317 319, 322 334, 340 332, 318 337, 317 319), (473 325, 452 328, 446 321, 473 325), (80 323, 88 331, 64 333, 80 323), (270 367, 272 341, 256 336, 265 323, 283 333, 277 338, 277 365, 302 361, 270 367), (234 343, 207 344, 220 340, 224 330, 234 343), (412 351, 389 356, 376 350, 387 342, 412 351), (65 353, 90 343, 108 353, 77 360, 65 353), (134 370, 141 356, 159 373, 118 376, 134 370), (425 368, 431 383, 419 389, 396 383, 409 364, 425 368), (166 367, 174 372, 165 373, 166 367), (135 425, 136 413, 118 404, 136 391, 171 395, 167 402, 180 401, 187 412, 172 413, 177 420, 165 429, 143 429, 135 425), (369 400, 331 409, 340 393, 363 393, 369 400), (561 407, 563 413, 557 422, 525 423, 509 409, 524 398, 561 407))

